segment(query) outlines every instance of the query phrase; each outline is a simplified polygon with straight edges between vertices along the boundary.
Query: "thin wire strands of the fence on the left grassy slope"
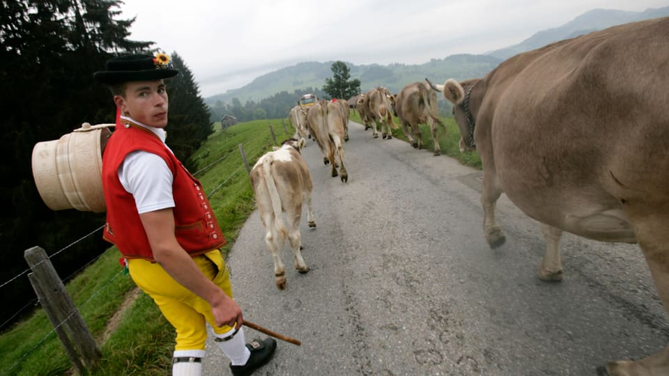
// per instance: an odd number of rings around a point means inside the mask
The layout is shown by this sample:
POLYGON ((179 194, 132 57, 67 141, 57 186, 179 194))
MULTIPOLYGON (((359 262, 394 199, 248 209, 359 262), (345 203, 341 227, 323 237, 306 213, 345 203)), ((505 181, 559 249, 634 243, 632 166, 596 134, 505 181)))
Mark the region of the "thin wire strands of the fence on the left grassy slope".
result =
MULTIPOLYGON (((270 127, 271 127, 271 126, 270 126, 270 127)), ((285 125, 284 125, 284 127, 285 127, 285 125)), ((271 129, 271 128, 270 128, 270 129, 271 129)), ((251 139, 247 139, 246 141, 244 141, 243 143, 241 143, 240 146, 243 147, 245 143, 248 145, 248 143, 249 143, 250 141, 252 141, 252 140, 251 140, 251 139)), ((275 143, 276 143, 276 142, 275 142, 275 143)), ((262 146, 261 146, 261 148, 259 148, 259 149, 253 150, 253 152, 249 153, 249 155, 256 155, 256 153, 260 152, 261 150, 263 150, 263 147, 262 147, 262 146)), ((193 175, 197 175, 197 174, 199 174, 199 173, 202 173, 203 171, 206 171, 206 170, 210 169, 211 167, 215 166, 216 164, 219 164, 220 162, 223 162, 225 159, 227 159, 228 157, 230 157, 234 152, 236 152, 236 150, 231 150, 230 152, 227 152, 226 155, 224 155, 224 156, 222 156, 222 157, 216 159, 214 162, 211 162, 211 163, 208 164, 207 166, 204 166, 202 169, 199 169, 198 171, 196 171, 195 173, 193 173, 193 175)), ((233 178, 233 176, 237 175, 237 173, 238 173, 244 166, 245 166, 245 164, 240 164, 240 166, 238 166, 238 168, 235 169, 235 171, 233 171, 232 173, 230 173, 229 175, 227 175, 226 178, 224 178, 224 180, 223 180, 222 182, 220 182, 220 184, 218 184, 216 187, 214 187, 214 188, 210 191, 210 193, 207 195, 207 197, 210 198, 211 196, 213 196, 213 194, 215 194, 215 192, 219 191, 222 187, 224 187, 224 185, 226 184, 226 182, 228 182, 229 180, 231 180, 231 178, 233 178)), ((100 227, 98 227, 98 228, 95 228, 95 230, 92 230, 90 233, 88 233, 88 234, 86 234, 86 235, 80 237, 79 239, 75 240, 74 242, 68 244, 67 246, 64 246, 64 247, 63 247, 62 249, 60 249, 59 251, 56 251, 56 252, 52 253, 51 255, 49 255, 49 256, 47 257, 47 260, 51 260, 51 258, 53 258, 54 256, 59 255, 60 253, 62 253, 63 251, 66 251, 67 249, 70 249, 72 246, 74 246, 75 244, 77 244, 77 243, 79 243, 79 242, 82 242, 82 240, 85 240, 87 237, 89 237, 89 236, 91 236, 91 235, 93 235, 93 234, 95 234, 95 233, 98 233, 98 231, 102 230, 102 228, 104 228, 104 225, 103 225, 103 226, 100 226, 100 227)), ((96 260, 98 260, 101 256, 102 256, 102 253, 100 253, 100 255, 98 255, 98 256, 96 256, 95 258, 93 258, 93 260, 91 260, 91 261, 89 261, 88 263, 86 263, 86 265, 83 265, 82 267, 80 267, 79 269, 77 269, 77 271, 75 271, 75 272, 73 272, 72 274, 70 274, 66 279, 63 279, 63 283, 66 282, 66 281, 69 281, 70 279, 72 279, 75 275, 79 274, 79 272, 81 272, 83 269, 86 269, 86 267, 89 267, 89 265, 91 265, 92 263, 94 263, 94 262, 95 262, 96 260)), ((46 261, 46 260, 44 260, 44 261, 42 261, 42 262, 40 262, 40 263, 43 263, 43 262, 45 262, 45 261, 46 261)), ((38 265, 39 265, 39 263, 38 263, 38 265)), ((21 276, 24 276, 25 274, 28 274, 29 272, 31 272, 31 269, 25 269, 23 272, 20 272, 19 274, 13 276, 11 279, 9 279, 8 281, 6 281, 5 283, 2 283, 2 284, 0 285, 0 290, 1 290, 3 287, 5 287, 6 285, 10 284, 11 282, 13 282, 13 281, 19 279, 21 276)), ((114 280, 116 280, 116 279, 118 278, 118 276, 120 276, 122 273, 123 273, 123 270, 119 271, 119 272, 116 273, 114 276, 112 276, 112 278, 109 279, 109 281, 107 281, 107 283, 105 283, 105 285, 103 285, 103 286, 102 286, 101 288, 99 288, 98 290, 95 290, 95 291, 92 293, 91 297, 89 297, 89 299, 87 299, 86 301, 84 301, 82 304, 79 304, 79 307, 81 308, 81 307, 86 306, 86 304, 89 304, 89 302, 92 301, 93 298, 95 298, 95 297, 97 297, 98 295, 100 295, 100 292, 102 292, 102 291, 104 291, 105 289, 109 288, 109 286, 112 284, 112 282, 114 282, 114 280)), ((2 324, 0 324, 0 331, 2 331, 2 330, 6 327, 6 325, 8 325, 10 322, 13 322, 13 319, 16 318, 18 315, 20 315, 20 314, 23 313, 24 311, 28 310, 29 308, 33 308, 33 307, 35 307, 35 306, 38 304, 38 302, 39 302, 39 299, 37 299, 37 298, 31 299, 30 301, 28 301, 22 308, 20 308, 19 311, 17 311, 16 313, 14 313, 8 320, 6 320, 6 321, 3 322, 2 324)), ((38 343, 36 343, 35 345, 33 345, 33 347, 31 347, 28 351, 24 352, 24 354, 22 354, 21 357, 19 357, 19 359, 17 359, 9 369, 7 369, 7 370, 3 370, 2 375, 10 375, 11 371, 14 370, 14 368, 15 368, 16 366, 18 366, 18 365, 21 363, 21 361, 22 361, 23 359, 25 359, 26 357, 28 357, 29 354, 31 354, 31 352, 37 350, 37 349, 38 349, 41 345, 43 345, 43 343, 45 343, 45 342, 46 342, 52 335, 56 334, 56 330, 59 329, 59 327, 61 327, 65 322, 67 322, 73 314, 74 314, 74 313, 70 313, 70 315, 69 315, 66 319, 62 320, 59 324, 55 325, 55 326, 53 327, 53 329, 52 329, 51 331, 49 331, 48 334, 46 334, 42 339, 40 339, 40 340, 38 341, 38 343)))

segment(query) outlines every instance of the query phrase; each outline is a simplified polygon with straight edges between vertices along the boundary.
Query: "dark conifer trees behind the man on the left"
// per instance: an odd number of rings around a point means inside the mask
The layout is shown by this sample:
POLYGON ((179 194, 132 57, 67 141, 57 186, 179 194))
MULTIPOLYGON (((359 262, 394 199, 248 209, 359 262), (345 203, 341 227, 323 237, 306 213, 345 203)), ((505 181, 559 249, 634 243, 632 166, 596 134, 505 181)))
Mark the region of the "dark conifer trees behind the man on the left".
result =
MULTIPOLYGON (((38 142, 60 139, 82 123, 114 123, 112 95, 93 72, 118 54, 153 54, 151 41, 130 40, 132 19, 119 19, 120 0, 4 0, 0 2, 0 288, 6 322, 35 294, 27 276, 24 251, 43 247, 66 279, 99 256, 109 243, 91 233, 104 213, 52 211, 43 203, 32 175, 31 156, 38 142)), ((176 52, 180 75, 167 81, 167 144, 190 166, 192 153, 212 132, 210 112, 193 75, 176 52)), ((5 327, 6 328, 6 327, 5 327)))

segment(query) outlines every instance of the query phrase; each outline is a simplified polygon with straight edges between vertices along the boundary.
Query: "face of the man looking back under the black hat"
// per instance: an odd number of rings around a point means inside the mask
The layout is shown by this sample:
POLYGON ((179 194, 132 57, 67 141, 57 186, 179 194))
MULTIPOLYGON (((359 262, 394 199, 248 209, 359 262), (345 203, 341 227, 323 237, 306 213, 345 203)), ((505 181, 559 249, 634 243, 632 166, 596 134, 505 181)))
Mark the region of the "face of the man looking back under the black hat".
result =
POLYGON ((125 84, 125 97, 114 95, 121 113, 154 128, 167 125, 167 91, 162 79, 130 81, 125 84))

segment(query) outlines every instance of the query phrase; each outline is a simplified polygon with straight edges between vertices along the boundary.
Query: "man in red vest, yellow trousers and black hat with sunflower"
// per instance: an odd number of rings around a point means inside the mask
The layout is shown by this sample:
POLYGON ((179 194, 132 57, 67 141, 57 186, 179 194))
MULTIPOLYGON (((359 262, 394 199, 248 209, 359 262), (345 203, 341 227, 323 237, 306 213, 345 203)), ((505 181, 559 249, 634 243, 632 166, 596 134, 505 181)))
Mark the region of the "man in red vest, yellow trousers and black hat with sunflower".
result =
POLYGON ((165 143, 163 79, 177 74, 165 54, 112 58, 107 70, 95 72, 118 113, 102 155, 102 236, 118 247, 133 281, 174 326, 173 375, 200 375, 207 323, 233 375, 249 375, 270 360, 277 343, 266 338, 245 345, 242 311, 220 252, 221 228, 200 182, 165 143))

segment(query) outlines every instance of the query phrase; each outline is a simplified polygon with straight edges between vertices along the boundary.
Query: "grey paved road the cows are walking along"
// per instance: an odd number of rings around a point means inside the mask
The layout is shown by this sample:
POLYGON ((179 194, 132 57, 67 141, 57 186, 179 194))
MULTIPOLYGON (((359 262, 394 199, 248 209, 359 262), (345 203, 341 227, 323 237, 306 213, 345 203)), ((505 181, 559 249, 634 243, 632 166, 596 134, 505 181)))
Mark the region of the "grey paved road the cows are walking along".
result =
MULTIPOLYGON (((594 375, 669 343, 637 246, 564 235, 564 281, 541 282, 539 225, 503 195, 507 242, 486 244, 479 171, 357 123, 344 148, 346 184, 313 141, 303 151, 318 224, 302 225, 308 274, 286 245, 287 289, 275 288, 257 212, 231 251, 245 318, 302 341, 279 341, 256 375, 594 375)), ((203 375, 230 375, 208 349, 203 375)))

